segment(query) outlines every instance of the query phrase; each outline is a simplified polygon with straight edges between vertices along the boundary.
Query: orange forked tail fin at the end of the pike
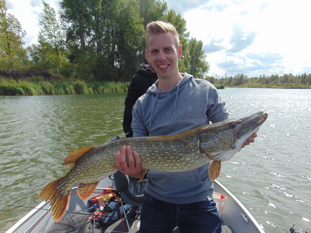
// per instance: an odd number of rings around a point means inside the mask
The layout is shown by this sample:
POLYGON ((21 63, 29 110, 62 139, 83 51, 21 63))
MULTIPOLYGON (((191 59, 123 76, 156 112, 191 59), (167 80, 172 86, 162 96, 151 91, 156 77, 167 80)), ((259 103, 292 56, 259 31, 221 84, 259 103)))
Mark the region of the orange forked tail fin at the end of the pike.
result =
POLYGON ((56 184, 60 179, 49 183, 39 194, 41 200, 51 202, 51 211, 55 222, 61 219, 61 217, 64 215, 66 207, 68 205, 70 194, 70 192, 68 192, 68 194, 63 196, 59 192, 56 184))

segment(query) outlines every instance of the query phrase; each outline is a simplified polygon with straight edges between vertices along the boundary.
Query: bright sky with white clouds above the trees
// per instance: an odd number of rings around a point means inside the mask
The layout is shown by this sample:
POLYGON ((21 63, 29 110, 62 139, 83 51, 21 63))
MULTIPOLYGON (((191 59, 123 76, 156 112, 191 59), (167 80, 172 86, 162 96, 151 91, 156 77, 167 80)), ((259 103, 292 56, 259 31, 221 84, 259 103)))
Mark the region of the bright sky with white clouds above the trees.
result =
MULTIPOLYGON (((57 0, 46 0, 56 11, 57 0)), ((217 78, 311 73, 309 0, 166 0, 186 20, 190 37, 203 42, 217 78), (191 2, 191 3, 190 3, 191 2)), ((41 0, 6 0, 8 13, 37 43, 41 0)))

